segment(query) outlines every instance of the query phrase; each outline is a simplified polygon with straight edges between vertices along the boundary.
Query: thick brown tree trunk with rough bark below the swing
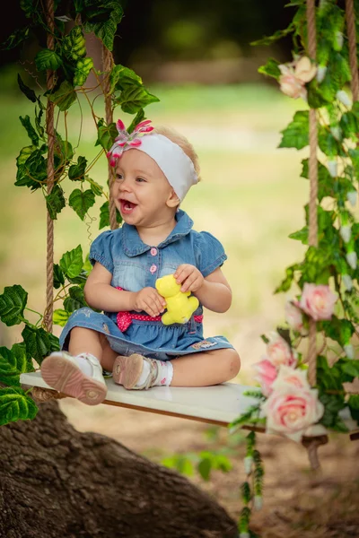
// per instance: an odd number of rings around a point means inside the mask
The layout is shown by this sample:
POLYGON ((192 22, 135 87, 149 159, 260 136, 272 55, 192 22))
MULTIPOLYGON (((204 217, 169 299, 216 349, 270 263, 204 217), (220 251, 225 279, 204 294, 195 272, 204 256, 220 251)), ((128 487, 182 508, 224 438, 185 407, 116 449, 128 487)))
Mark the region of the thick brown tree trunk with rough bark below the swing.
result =
MULTIPOLYGON (((121 424, 118 423, 118 428, 121 424)), ((57 402, 0 428, 0 537, 235 538, 235 522, 180 474, 79 433, 57 402)))

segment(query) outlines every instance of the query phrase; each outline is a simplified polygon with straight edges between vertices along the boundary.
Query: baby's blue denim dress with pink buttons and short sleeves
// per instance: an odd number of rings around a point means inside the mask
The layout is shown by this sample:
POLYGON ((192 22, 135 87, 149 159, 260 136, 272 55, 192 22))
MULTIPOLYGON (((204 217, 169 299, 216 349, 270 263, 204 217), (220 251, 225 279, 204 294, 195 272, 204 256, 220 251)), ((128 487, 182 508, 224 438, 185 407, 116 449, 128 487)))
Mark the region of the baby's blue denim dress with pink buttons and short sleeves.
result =
MULTIPOLYGON (((223 265, 227 256, 223 246, 206 231, 192 230, 193 221, 182 210, 177 224, 158 246, 145 245, 135 226, 124 223, 118 230, 104 231, 92 242, 90 261, 99 262, 112 273, 111 285, 125 291, 155 287, 158 278, 175 273, 181 264, 195 265, 206 277, 223 265)), ((61 349, 68 349, 69 333, 76 326, 104 334, 119 355, 140 353, 158 360, 171 360, 199 351, 232 348, 224 336, 204 338, 201 305, 186 324, 163 325, 162 321, 132 319, 126 330, 117 324, 117 312, 100 314, 92 308, 79 308, 69 317, 60 336, 61 349)), ((138 315, 138 312, 133 312, 138 315)), ((142 312, 144 317, 149 316, 142 312)))

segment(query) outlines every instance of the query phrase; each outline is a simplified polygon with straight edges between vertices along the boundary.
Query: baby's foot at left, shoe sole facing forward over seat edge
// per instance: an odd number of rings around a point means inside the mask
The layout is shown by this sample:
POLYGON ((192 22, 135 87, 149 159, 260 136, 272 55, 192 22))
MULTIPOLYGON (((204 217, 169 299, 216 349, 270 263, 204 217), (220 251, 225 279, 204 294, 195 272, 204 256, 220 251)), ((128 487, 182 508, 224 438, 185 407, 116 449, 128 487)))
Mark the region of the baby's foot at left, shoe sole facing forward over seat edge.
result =
POLYGON ((85 357, 92 368, 90 376, 83 373, 75 357, 66 351, 55 351, 41 363, 42 378, 52 388, 77 398, 83 404, 101 404, 107 394, 101 364, 89 354, 85 357))

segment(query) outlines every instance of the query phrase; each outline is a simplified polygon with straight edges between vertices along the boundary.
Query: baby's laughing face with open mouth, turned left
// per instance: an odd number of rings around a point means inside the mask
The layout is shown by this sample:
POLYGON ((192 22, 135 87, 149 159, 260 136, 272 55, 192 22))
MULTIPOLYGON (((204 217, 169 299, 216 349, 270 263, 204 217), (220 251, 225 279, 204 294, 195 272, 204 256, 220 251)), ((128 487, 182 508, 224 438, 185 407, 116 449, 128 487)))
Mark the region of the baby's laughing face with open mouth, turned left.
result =
POLYGON ((157 163, 136 149, 118 159, 112 195, 123 220, 136 227, 153 227, 173 218, 180 203, 157 163))

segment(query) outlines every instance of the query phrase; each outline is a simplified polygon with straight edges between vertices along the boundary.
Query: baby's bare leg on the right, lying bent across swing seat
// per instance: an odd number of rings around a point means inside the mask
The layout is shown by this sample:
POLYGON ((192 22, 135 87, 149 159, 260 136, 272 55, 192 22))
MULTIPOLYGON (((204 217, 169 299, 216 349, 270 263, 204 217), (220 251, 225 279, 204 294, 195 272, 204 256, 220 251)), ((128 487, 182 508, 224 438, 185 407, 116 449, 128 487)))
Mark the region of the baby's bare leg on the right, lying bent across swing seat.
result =
POLYGON ((171 360, 171 386, 211 386, 236 377, 241 368, 237 351, 202 351, 171 360))

